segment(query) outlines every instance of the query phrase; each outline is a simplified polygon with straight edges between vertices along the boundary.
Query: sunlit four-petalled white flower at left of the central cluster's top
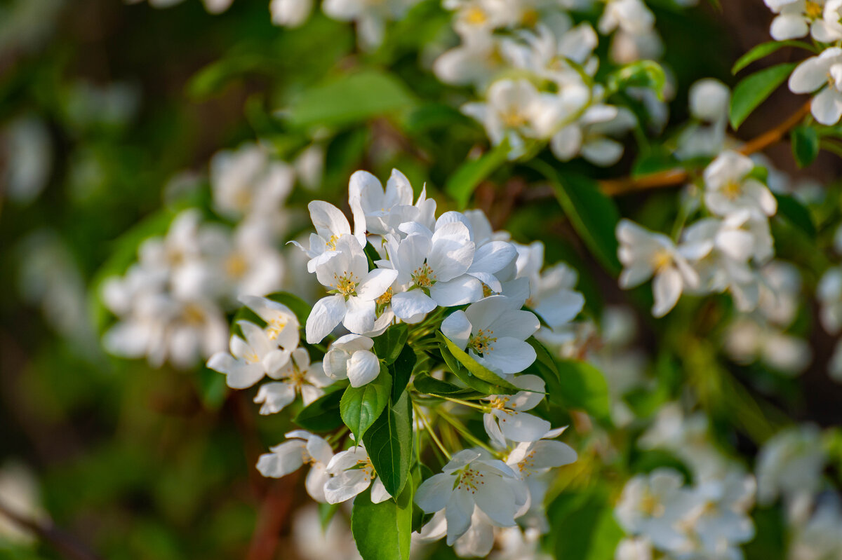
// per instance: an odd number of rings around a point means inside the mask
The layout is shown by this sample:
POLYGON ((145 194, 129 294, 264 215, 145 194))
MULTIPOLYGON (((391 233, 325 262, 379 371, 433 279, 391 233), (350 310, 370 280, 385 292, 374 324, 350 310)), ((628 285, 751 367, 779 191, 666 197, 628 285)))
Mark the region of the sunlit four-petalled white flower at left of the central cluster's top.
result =
POLYGON ((376 298, 392 285, 397 271, 376 268, 369 272, 360 242, 352 235, 336 240, 336 251, 317 258, 316 277, 333 295, 319 299, 307 318, 306 339, 321 342, 339 323, 358 335, 375 328, 376 298))

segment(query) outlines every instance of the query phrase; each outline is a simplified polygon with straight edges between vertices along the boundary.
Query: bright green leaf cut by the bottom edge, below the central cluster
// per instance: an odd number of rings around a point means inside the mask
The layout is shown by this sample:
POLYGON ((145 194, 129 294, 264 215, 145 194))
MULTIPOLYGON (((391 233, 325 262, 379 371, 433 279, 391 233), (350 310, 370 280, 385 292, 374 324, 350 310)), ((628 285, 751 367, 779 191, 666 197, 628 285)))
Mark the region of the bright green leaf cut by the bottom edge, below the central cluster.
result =
POLYGON ((408 560, 413 530, 413 484, 396 500, 371 503, 371 489, 354 499, 351 532, 363 560, 408 560))

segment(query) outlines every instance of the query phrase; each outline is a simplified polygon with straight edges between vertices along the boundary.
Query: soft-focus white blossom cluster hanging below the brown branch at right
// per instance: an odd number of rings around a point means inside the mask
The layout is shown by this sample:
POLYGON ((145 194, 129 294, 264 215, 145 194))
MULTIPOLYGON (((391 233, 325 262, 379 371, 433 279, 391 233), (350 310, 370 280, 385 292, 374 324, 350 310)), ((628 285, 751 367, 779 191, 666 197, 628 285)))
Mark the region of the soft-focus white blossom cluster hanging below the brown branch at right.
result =
POLYGON ((769 218, 777 201, 752 176, 754 162, 725 151, 704 173, 701 196, 710 214, 685 228, 676 244, 667 235, 643 229, 627 219, 617 226, 623 288, 653 278, 652 313, 662 317, 681 293, 731 293, 743 312, 759 304, 763 278, 759 267, 770 262, 774 246, 769 218))

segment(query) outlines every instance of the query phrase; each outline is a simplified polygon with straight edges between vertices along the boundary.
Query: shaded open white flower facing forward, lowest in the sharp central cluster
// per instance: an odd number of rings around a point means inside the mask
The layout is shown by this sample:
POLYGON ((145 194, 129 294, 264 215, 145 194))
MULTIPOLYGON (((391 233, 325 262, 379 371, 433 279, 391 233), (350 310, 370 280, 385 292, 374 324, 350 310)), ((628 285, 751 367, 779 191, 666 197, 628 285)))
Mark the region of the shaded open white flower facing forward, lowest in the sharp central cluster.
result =
POLYGON ((509 465, 478 449, 456 453, 415 494, 415 503, 424 512, 445 510, 448 545, 468 531, 475 506, 493 525, 512 527, 514 516, 528 499, 525 484, 509 465))

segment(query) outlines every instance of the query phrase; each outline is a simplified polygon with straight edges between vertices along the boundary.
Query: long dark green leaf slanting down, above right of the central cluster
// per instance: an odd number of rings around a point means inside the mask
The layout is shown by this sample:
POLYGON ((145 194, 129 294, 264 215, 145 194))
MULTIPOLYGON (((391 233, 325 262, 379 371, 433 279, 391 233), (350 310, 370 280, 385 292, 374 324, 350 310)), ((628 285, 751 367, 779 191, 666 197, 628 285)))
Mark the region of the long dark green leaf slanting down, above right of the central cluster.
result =
POLYGON ((605 270, 619 275, 621 266, 617 259, 615 230, 620 212, 614 201, 601 193, 599 185, 588 177, 562 176, 545 161, 532 161, 530 165, 550 180, 558 203, 576 233, 605 270))

